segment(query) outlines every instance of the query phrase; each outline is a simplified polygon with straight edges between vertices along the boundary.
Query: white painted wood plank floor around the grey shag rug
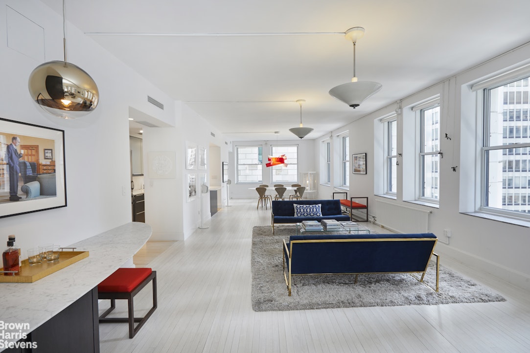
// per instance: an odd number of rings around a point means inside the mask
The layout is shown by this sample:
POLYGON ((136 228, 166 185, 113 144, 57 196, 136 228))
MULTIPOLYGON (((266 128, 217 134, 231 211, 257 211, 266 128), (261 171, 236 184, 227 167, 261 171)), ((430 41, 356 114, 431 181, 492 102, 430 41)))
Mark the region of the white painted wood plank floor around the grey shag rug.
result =
MULTIPOLYGON (((252 227, 270 225, 270 208, 256 210, 256 203, 233 200, 233 206, 214 215, 210 228, 198 229, 186 241, 168 242, 148 264, 157 271, 157 310, 133 339, 126 323, 101 324, 101 351, 530 351, 530 295, 446 257, 441 257, 443 265, 488 285, 508 301, 252 311, 252 227)), ((100 312, 107 303, 100 303, 100 312)), ((148 310, 150 285, 135 304, 137 316, 148 310)), ((118 301, 115 311, 126 315, 126 301, 118 301)))

